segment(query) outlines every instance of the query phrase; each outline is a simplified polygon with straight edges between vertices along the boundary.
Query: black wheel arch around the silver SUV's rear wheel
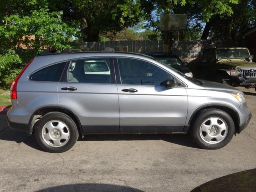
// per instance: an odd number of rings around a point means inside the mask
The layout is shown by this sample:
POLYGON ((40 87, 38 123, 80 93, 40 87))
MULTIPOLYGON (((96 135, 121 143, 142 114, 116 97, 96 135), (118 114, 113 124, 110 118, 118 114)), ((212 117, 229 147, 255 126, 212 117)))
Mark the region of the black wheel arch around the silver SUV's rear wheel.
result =
POLYGON ((78 116, 70 109, 62 107, 62 106, 44 106, 41 108, 36 109, 33 114, 30 116, 30 120, 29 120, 29 129, 28 129, 28 134, 31 135, 34 132, 34 125, 36 124, 37 120, 40 119, 40 117, 44 116, 45 114, 49 113, 49 112, 62 112, 68 116, 70 116, 70 118, 72 118, 72 120, 74 120, 74 122, 76 123, 78 132, 82 132, 82 125, 81 122, 78 118, 78 116))

